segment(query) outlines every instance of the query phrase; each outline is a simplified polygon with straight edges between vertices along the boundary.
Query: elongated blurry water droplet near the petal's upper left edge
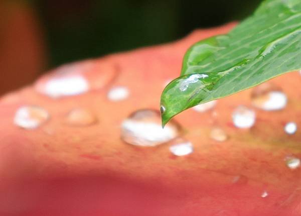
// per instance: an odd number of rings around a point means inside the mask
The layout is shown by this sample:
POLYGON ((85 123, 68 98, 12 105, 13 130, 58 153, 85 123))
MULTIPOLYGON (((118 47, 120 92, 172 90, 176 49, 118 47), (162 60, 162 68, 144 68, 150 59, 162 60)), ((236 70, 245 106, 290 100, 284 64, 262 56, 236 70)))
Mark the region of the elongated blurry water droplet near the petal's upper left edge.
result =
POLYGON ((63 65, 41 77, 35 84, 40 93, 50 97, 72 96, 102 88, 115 76, 113 67, 92 60, 63 65))

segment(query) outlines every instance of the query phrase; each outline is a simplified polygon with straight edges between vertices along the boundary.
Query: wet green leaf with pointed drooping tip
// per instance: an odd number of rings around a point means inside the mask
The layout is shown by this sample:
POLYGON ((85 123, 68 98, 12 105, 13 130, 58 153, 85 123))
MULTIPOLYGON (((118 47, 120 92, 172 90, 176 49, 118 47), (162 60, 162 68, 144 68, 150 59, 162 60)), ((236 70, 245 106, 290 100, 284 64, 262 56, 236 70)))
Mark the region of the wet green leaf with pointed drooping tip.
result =
POLYGON ((175 115, 301 68, 301 1, 267 0, 227 35, 194 44, 161 96, 163 126, 175 115))

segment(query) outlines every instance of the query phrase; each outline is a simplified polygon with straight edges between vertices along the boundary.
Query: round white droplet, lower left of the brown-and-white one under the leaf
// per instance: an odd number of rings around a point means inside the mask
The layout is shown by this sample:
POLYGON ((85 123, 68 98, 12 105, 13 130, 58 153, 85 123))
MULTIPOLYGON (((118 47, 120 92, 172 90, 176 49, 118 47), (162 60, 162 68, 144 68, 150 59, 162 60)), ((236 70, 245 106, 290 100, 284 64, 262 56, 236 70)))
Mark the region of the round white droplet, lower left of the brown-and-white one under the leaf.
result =
POLYGON ((233 114, 233 124, 237 128, 251 128, 255 124, 256 114, 246 106, 238 106, 233 114))

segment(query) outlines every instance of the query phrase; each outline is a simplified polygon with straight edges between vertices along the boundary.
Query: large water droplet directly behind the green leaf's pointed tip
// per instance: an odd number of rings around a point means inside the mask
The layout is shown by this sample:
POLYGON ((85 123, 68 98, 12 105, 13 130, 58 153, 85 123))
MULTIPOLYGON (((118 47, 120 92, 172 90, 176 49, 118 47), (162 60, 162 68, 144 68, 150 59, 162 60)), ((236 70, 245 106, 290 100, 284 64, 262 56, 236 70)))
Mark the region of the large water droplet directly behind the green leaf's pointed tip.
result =
POLYGON ((122 122, 121 139, 137 146, 157 146, 176 138, 179 131, 173 120, 162 129, 159 112, 139 110, 122 122))

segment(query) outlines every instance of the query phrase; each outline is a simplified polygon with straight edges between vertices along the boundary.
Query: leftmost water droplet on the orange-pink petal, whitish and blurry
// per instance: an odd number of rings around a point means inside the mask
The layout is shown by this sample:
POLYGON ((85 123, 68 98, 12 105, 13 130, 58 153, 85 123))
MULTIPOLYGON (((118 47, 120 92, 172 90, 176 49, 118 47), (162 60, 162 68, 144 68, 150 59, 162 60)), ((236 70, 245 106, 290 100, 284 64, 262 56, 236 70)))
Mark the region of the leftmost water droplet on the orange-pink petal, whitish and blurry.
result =
POLYGON ((14 123, 25 129, 35 129, 49 119, 46 110, 39 106, 22 106, 15 115, 14 123))

